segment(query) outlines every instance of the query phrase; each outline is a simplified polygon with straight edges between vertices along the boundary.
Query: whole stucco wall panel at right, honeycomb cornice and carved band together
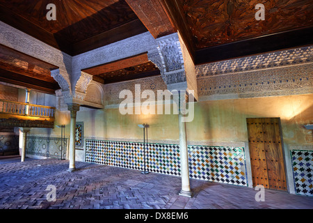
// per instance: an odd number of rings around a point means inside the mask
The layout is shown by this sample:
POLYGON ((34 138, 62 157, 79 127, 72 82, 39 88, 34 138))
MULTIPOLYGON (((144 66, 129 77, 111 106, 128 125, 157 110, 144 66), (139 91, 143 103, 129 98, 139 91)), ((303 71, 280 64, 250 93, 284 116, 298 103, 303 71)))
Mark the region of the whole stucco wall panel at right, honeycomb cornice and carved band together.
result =
POLYGON ((196 67, 200 100, 313 93, 312 47, 196 67))

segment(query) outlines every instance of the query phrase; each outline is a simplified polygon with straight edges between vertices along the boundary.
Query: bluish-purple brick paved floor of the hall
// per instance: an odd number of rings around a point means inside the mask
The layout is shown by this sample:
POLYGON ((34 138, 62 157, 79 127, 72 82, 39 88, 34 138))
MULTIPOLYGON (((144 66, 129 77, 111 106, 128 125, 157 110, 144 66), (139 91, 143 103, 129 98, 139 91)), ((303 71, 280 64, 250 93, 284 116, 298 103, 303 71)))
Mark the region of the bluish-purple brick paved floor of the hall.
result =
POLYGON ((67 160, 0 159, 0 208, 313 208, 313 197, 275 190, 255 201, 252 188, 191 179, 193 197, 177 195, 181 179, 140 171, 67 160), (56 187, 56 201, 47 201, 48 185, 56 187))

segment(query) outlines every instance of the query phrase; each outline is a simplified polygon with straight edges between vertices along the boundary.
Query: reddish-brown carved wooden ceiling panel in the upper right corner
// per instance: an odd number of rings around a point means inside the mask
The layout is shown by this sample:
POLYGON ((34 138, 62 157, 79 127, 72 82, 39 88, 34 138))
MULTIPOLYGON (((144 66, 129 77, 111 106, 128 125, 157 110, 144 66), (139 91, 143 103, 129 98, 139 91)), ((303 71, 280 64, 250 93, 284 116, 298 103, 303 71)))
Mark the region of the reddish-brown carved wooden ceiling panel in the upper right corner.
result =
POLYGON ((202 49, 313 25, 312 0, 178 0, 202 49), (257 3, 265 20, 255 20, 257 3))

